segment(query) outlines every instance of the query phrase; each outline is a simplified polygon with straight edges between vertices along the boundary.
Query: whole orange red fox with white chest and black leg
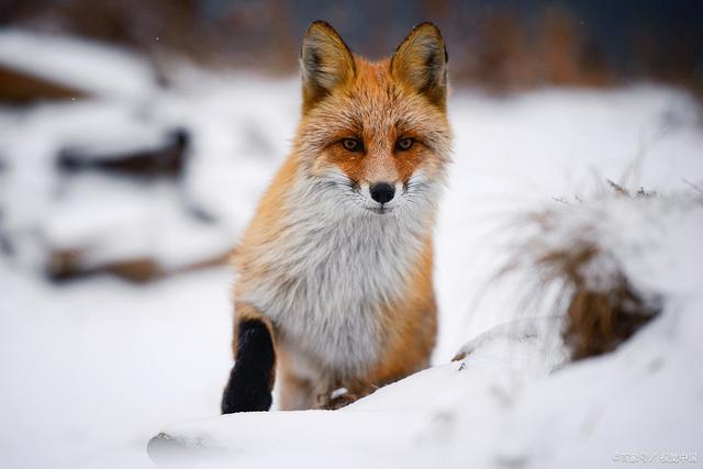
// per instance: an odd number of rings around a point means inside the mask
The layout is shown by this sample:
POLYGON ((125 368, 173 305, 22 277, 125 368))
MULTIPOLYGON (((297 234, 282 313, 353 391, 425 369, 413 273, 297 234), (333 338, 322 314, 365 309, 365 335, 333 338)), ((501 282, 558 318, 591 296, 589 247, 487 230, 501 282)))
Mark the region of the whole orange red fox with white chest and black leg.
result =
POLYGON ((277 380, 280 410, 339 409, 429 366, 447 62, 432 23, 377 62, 308 27, 292 148, 232 255, 223 414, 270 410, 277 380))

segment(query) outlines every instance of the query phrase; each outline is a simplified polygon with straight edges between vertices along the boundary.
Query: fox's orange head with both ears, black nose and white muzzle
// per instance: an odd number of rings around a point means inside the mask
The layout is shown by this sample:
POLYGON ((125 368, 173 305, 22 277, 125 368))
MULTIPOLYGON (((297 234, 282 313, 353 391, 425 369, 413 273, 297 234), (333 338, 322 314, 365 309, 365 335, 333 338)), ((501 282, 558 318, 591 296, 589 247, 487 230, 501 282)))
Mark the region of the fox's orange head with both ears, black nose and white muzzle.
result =
POLYGON ((439 30, 420 24, 392 57, 369 62, 319 21, 305 33, 300 62, 295 153, 310 190, 366 214, 434 204, 450 147, 439 30))

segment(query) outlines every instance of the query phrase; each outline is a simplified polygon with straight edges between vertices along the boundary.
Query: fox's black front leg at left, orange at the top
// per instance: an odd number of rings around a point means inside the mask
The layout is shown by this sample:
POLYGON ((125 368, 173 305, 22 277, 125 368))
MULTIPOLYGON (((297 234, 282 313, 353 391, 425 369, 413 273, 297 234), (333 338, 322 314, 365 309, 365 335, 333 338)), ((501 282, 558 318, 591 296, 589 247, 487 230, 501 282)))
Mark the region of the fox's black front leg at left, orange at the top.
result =
POLYGON ((235 361, 222 395, 222 413, 268 411, 276 378, 274 327, 248 304, 235 304, 235 361))

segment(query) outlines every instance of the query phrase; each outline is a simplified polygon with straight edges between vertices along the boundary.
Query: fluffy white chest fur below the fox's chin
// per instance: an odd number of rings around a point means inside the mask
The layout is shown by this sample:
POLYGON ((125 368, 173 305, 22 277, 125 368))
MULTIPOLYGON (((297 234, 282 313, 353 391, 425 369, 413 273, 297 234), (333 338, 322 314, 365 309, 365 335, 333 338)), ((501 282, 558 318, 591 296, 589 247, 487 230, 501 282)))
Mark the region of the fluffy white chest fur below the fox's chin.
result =
POLYGON ((309 196, 261 249, 269 268, 241 300, 270 317, 302 361, 338 376, 364 373, 380 351, 381 310, 406 291, 431 208, 379 215, 309 196))

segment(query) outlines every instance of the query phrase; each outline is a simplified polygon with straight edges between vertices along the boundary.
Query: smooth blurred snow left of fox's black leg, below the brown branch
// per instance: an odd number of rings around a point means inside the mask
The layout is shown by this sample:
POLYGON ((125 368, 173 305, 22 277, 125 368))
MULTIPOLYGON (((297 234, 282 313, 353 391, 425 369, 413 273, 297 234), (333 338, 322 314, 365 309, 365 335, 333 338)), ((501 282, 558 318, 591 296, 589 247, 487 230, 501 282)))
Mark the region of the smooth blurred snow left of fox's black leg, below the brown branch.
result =
POLYGON ((2 263, 0 279, 3 467, 149 468, 144 448, 165 418, 215 414, 225 269, 57 287, 2 263))

